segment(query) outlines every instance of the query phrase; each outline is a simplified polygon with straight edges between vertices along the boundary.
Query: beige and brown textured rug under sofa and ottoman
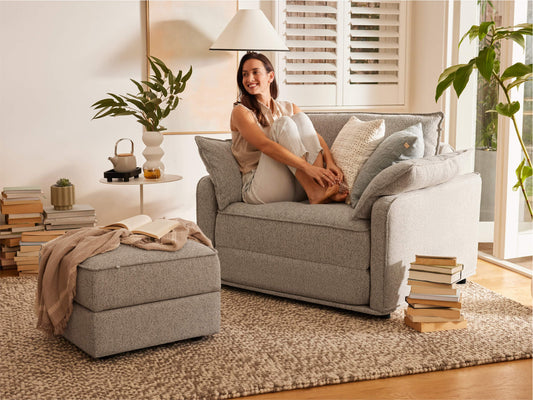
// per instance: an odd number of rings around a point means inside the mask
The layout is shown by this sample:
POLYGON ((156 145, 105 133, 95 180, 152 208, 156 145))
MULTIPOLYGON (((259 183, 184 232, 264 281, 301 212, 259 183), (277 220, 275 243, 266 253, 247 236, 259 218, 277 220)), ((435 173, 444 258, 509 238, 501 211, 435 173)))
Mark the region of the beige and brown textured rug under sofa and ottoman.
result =
POLYGON ((0 279, 1 399, 223 399, 532 353, 531 308, 468 283, 464 330, 418 333, 402 310, 381 319, 224 288, 219 334, 93 360, 34 328, 35 286, 0 279))

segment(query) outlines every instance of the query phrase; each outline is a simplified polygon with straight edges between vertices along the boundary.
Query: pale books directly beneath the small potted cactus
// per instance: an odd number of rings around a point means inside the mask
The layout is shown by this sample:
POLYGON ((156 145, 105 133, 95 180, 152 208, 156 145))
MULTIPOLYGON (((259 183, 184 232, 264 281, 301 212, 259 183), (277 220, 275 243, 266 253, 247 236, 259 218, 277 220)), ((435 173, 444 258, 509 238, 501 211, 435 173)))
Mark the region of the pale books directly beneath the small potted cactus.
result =
POLYGON ((45 207, 44 224, 47 231, 91 227, 96 225, 96 211, 87 204, 74 204, 71 210, 45 207))

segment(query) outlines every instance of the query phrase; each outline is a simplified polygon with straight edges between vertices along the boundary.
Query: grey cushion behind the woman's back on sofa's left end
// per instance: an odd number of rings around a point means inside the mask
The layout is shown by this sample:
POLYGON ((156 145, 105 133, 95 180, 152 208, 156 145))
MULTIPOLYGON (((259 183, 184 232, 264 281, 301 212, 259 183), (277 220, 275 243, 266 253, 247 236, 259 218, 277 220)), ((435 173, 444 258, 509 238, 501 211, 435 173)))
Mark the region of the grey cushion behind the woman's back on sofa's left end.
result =
POLYGON ((242 178, 237 160, 231 152, 231 140, 196 136, 200 158, 215 186, 218 209, 242 201, 242 178))

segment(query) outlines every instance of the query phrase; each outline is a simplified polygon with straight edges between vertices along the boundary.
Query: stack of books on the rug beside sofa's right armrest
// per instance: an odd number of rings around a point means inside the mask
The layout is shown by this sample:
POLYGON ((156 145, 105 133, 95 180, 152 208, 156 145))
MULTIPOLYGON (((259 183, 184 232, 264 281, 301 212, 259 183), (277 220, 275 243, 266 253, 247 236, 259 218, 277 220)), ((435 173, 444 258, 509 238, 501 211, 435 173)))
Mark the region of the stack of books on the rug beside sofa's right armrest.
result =
POLYGON ((409 268, 406 325, 419 332, 466 328, 461 313, 463 265, 455 257, 420 256, 409 268))

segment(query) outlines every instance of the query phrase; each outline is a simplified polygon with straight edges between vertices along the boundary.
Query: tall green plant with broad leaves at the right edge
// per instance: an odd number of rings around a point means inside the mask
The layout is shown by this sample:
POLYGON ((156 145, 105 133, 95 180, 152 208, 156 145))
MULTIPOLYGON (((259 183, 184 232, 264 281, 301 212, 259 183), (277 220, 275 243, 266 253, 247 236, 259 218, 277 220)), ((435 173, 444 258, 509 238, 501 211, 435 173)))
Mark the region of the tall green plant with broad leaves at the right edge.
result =
MULTIPOLYGON (((483 3, 482 6, 485 6, 487 2, 478 1, 478 3, 483 3)), ((492 6, 490 1, 488 3, 492 6)), ((461 38, 459 46, 466 37, 469 37, 470 41, 477 38, 480 43, 479 52, 467 64, 453 65, 442 72, 437 83, 435 101, 452 85, 457 97, 459 97, 470 80, 470 75, 474 68, 479 70, 479 74, 486 81, 490 82, 491 79, 494 79, 498 83, 503 93, 503 99, 498 102, 495 110, 491 111, 510 118, 512 121, 516 136, 524 153, 522 162, 516 168, 517 183, 514 185, 513 190, 521 190, 529 214, 533 218, 533 210, 531 208, 531 201, 529 200, 529 196, 532 196, 532 193, 528 193, 526 190, 526 181, 533 179, 531 156, 524 144, 515 118, 516 113, 520 110, 520 102, 511 101, 510 96, 512 89, 518 88, 523 83, 533 80, 533 66, 532 64, 515 63, 505 67, 501 66, 500 61, 496 58, 496 48, 502 41, 512 40, 522 48, 525 48, 525 36, 532 35, 532 28, 532 24, 529 23, 500 27, 496 26, 493 19, 482 22, 480 25, 473 25, 461 38)), ((527 186, 531 187, 531 185, 527 186)))

